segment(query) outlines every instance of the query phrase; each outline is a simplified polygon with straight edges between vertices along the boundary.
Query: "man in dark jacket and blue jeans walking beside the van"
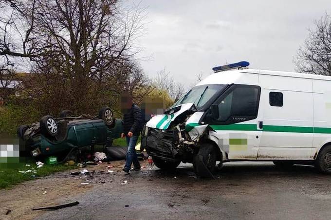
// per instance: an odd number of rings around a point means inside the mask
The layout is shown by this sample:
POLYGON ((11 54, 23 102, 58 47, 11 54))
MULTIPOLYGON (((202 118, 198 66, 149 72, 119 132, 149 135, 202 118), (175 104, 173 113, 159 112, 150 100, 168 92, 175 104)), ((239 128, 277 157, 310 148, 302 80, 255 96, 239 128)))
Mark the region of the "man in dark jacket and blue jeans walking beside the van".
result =
POLYGON ((140 108, 133 103, 132 97, 128 93, 121 96, 121 104, 122 113, 124 115, 124 133, 121 134, 121 138, 126 138, 128 145, 127 161, 123 171, 129 173, 132 163, 133 169, 131 169, 131 171, 140 170, 140 163, 138 161, 135 146, 140 135, 142 116, 140 108))

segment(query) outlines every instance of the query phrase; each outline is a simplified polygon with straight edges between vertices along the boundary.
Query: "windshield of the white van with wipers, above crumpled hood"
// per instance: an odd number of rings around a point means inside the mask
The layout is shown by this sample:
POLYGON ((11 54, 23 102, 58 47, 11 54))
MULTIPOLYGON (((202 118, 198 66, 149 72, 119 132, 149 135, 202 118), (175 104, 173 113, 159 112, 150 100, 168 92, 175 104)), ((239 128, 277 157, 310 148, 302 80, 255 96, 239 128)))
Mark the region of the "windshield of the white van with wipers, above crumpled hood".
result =
POLYGON ((188 91, 182 98, 176 101, 171 106, 171 108, 185 103, 194 103, 195 106, 199 109, 217 92, 221 91, 224 86, 225 85, 222 84, 195 86, 190 91, 188 91))

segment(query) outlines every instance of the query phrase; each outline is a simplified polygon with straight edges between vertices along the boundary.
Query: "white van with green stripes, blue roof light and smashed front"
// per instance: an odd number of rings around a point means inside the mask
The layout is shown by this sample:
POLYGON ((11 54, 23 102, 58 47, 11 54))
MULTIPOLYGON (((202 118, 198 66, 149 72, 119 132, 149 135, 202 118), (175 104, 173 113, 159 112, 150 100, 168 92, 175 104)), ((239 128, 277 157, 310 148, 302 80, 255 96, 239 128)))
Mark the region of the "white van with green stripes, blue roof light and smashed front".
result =
POLYGON ((191 162, 204 177, 216 161, 250 160, 314 164, 331 173, 331 77, 243 69, 248 65, 213 68, 147 122, 142 147, 156 166, 191 162))

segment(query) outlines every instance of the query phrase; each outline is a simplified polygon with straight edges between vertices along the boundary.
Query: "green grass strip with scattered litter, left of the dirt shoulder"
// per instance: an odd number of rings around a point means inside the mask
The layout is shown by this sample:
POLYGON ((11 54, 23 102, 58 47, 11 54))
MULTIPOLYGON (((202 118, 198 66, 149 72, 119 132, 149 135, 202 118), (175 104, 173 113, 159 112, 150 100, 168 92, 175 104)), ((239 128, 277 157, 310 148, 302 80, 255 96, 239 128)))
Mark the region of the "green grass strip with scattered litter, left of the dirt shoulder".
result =
MULTIPOLYGON (((11 158, 11 160, 13 161, 13 158, 11 158)), ((17 185, 27 180, 34 180, 37 177, 48 176, 55 172, 76 168, 76 166, 65 166, 62 164, 59 165, 45 164, 43 167, 37 168, 37 165, 34 161, 24 162, 24 161, 19 161, 18 158, 16 158, 16 160, 18 160, 18 162, 16 163, 14 162, 0 163, 0 188, 10 188, 14 185, 17 185), (29 164, 30 166, 26 166, 26 164, 29 164), (31 173, 23 174, 23 173, 19 173, 18 172, 19 170, 20 171, 34 170, 37 173, 31 172, 31 173)))

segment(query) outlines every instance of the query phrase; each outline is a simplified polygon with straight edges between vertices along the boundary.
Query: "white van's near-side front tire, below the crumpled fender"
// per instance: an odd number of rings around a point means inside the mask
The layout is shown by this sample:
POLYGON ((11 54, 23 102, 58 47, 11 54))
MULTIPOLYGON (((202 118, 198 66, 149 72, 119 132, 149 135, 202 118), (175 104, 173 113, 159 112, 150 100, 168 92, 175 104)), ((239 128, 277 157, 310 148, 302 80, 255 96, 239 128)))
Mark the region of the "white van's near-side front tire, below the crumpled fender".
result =
POLYGON ((215 146, 211 143, 202 143, 198 154, 195 156, 193 161, 194 172, 198 177, 210 177, 210 173, 205 172, 204 169, 199 169, 197 167, 196 161, 202 158, 205 167, 209 170, 211 174, 216 172, 216 160, 217 160, 217 150, 215 146))

